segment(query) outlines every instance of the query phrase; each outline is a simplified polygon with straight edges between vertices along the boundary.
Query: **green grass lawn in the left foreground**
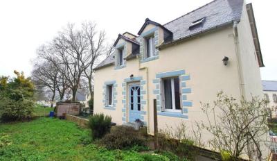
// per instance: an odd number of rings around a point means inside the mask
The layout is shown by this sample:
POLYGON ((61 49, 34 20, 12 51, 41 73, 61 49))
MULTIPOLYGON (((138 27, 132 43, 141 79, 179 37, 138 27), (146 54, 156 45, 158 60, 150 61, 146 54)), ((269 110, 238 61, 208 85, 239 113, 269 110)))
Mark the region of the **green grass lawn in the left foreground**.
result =
POLYGON ((89 136, 88 129, 73 122, 46 117, 1 124, 0 160, 168 160, 150 153, 109 151, 90 144, 89 136))

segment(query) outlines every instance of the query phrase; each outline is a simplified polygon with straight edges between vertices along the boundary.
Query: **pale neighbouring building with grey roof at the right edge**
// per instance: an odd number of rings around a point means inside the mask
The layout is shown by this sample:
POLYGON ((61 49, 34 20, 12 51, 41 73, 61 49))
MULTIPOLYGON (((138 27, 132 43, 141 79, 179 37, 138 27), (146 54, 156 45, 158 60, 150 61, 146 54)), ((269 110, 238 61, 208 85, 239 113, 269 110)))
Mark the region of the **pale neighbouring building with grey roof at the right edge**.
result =
POLYGON ((277 80, 262 80, 262 87, 272 117, 277 117, 277 80))

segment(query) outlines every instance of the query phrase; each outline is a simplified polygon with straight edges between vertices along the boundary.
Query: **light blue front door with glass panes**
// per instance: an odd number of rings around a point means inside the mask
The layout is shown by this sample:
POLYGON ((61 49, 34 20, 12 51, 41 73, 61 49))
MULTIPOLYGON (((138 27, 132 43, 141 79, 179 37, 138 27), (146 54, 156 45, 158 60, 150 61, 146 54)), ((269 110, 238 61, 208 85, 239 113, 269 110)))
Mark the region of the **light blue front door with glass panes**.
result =
POLYGON ((129 122, 141 119, 141 87, 129 86, 129 122))

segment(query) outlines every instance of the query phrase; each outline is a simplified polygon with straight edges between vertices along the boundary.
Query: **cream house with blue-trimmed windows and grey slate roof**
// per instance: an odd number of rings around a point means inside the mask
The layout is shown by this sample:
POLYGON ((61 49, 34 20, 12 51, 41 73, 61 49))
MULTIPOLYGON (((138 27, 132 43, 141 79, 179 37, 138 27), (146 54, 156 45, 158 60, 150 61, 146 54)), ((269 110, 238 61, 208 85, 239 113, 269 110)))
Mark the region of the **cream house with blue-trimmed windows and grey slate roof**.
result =
POLYGON ((166 24, 145 19, 137 35, 119 34, 114 49, 95 68, 94 111, 116 124, 141 119, 153 134, 154 99, 162 129, 208 122, 200 102, 213 103, 220 90, 262 96, 262 53, 243 0, 215 0, 166 24))

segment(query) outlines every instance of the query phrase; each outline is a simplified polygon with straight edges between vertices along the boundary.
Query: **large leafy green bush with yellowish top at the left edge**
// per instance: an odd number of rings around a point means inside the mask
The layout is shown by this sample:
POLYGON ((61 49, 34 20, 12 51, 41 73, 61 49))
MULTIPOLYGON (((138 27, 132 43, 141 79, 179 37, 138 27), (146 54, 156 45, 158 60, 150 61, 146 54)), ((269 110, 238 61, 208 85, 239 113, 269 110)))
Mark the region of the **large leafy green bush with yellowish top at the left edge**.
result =
POLYGON ((34 110, 35 87, 24 73, 14 71, 16 78, 0 76, 0 118, 1 121, 30 119, 34 110))

